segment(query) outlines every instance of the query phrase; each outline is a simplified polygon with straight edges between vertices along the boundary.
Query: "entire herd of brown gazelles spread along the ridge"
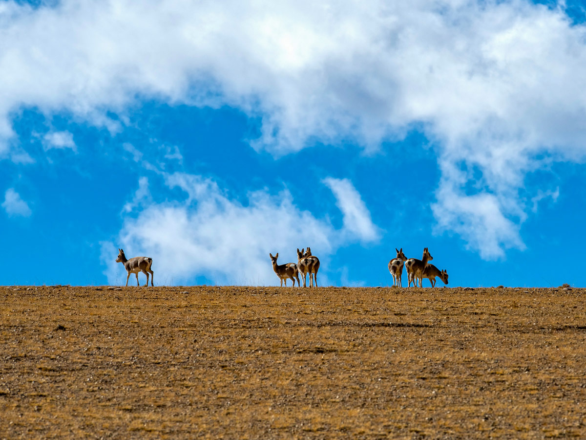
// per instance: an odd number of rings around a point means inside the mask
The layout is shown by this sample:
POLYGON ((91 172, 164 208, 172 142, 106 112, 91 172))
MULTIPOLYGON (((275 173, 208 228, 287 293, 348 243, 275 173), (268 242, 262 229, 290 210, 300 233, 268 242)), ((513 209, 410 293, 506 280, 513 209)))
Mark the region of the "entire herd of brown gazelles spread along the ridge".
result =
MULTIPOLYGON (((421 282, 424 278, 429 279, 431 286, 434 287, 435 277, 437 276, 439 276, 445 284, 448 284, 448 272, 445 270, 440 271, 434 265, 428 263, 428 261, 434 258, 431 256, 430 251, 427 248, 423 249, 423 257, 421 260, 418 260, 417 258, 407 259, 403 253, 403 248, 395 248, 395 251, 397 251, 397 257, 389 262, 389 272, 393 276, 393 286, 403 287, 403 284, 401 283, 403 265, 407 268, 408 287, 411 287, 412 282, 413 286, 417 287, 417 280, 419 280, 419 287, 421 287, 421 282)), ((277 258, 279 257, 279 253, 277 252, 277 255, 275 256, 273 256, 272 253, 269 253, 268 255, 271 257, 272 270, 275 271, 281 280, 281 287, 283 286, 283 280, 285 281, 285 287, 287 287, 287 279, 292 281, 293 287, 295 287, 295 280, 297 279, 297 286, 301 287, 299 273, 301 273, 304 287, 307 287, 305 280, 308 274, 309 286, 318 286, 319 258, 311 254, 311 248, 309 248, 309 246, 307 247, 307 250, 301 249, 301 251, 299 251, 299 248, 297 249, 297 264, 285 263, 284 265, 278 265, 277 258)), ((128 273, 128 276, 126 277, 127 286, 131 273, 134 273, 137 276, 137 286, 139 286, 138 272, 147 275, 147 284, 145 284, 145 286, 148 286, 150 273, 151 286, 154 286, 154 273, 151 270, 152 258, 134 257, 127 259, 124 255, 124 249, 118 249, 118 258, 116 259, 116 262, 124 264, 124 269, 126 269, 126 272, 128 273)))

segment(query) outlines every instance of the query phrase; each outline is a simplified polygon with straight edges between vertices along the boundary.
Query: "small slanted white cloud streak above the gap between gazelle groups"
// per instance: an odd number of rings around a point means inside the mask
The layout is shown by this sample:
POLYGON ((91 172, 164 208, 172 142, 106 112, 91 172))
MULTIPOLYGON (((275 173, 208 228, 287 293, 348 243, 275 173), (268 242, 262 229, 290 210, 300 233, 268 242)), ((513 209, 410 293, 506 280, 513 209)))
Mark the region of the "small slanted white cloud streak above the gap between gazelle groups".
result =
POLYGON ((336 197, 336 206, 342 211, 343 224, 347 232, 365 242, 376 241, 380 238, 379 228, 373 224, 370 212, 352 182, 347 179, 327 177, 323 179, 323 183, 336 197))

